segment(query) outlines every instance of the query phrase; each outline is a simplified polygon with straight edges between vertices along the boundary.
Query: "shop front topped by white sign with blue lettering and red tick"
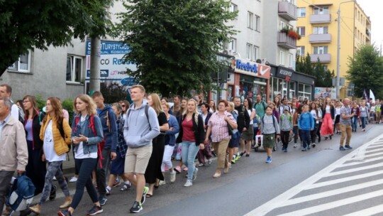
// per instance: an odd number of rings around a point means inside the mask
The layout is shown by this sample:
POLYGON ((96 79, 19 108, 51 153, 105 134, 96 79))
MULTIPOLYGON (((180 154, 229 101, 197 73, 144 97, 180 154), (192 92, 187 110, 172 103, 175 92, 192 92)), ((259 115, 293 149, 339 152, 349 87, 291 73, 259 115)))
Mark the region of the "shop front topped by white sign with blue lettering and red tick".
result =
POLYGON ((266 100, 270 94, 270 66, 250 62, 249 60, 235 59, 233 61, 235 72, 229 74, 233 76, 228 82, 228 99, 232 97, 251 97, 255 101, 255 96, 260 94, 266 100))

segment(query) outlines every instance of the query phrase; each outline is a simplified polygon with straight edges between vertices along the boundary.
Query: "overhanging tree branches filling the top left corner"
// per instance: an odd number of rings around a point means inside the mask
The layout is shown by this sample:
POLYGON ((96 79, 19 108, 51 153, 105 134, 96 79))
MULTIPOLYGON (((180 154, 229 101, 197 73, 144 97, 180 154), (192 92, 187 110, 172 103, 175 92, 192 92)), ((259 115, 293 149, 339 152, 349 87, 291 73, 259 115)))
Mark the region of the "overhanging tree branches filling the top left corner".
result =
POLYGON ((104 36, 111 0, 0 0, 0 76, 28 49, 104 36))

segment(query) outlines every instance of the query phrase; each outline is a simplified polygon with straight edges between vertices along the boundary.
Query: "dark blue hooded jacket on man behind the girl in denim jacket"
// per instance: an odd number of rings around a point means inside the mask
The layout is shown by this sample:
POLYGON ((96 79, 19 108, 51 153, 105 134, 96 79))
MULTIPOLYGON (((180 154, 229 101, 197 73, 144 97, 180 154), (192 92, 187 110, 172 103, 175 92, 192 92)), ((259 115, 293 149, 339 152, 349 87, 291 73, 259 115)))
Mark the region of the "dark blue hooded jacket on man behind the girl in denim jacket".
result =
POLYGON ((113 112, 111 105, 105 104, 104 109, 99 110, 99 118, 101 120, 102 131, 104 132, 106 149, 116 152, 117 148, 117 124, 116 114, 113 112))

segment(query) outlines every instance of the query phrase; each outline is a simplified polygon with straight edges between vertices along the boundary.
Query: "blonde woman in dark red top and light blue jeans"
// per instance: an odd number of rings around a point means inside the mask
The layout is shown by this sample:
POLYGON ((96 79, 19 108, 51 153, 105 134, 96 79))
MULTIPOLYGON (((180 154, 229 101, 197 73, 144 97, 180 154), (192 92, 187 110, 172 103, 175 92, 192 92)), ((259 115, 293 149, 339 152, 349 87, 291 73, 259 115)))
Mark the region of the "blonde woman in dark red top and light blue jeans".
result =
POLYGON ((187 109, 182 115, 179 125, 177 143, 182 143, 182 162, 187 166, 187 182, 184 187, 193 185, 196 180, 198 168, 194 166, 194 159, 199 149, 204 149, 204 120, 197 111, 197 104, 194 99, 189 99, 187 109))

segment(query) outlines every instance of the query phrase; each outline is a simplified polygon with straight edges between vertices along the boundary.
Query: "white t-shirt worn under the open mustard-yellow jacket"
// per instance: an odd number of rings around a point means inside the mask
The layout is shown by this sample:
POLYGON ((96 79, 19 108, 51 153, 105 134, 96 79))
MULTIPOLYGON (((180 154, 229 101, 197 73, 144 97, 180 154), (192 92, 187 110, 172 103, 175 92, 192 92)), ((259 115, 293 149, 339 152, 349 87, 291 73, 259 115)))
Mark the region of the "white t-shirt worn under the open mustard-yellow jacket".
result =
POLYGON ((53 134, 52 134, 52 120, 48 122, 47 128, 44 133, 44 154, 45 160, 49 162, 53 161, 65 161, 67 159, 67 155, 63 153, 60 156, 57 156, 55 151, 55 145, 53 144, 53 134))

